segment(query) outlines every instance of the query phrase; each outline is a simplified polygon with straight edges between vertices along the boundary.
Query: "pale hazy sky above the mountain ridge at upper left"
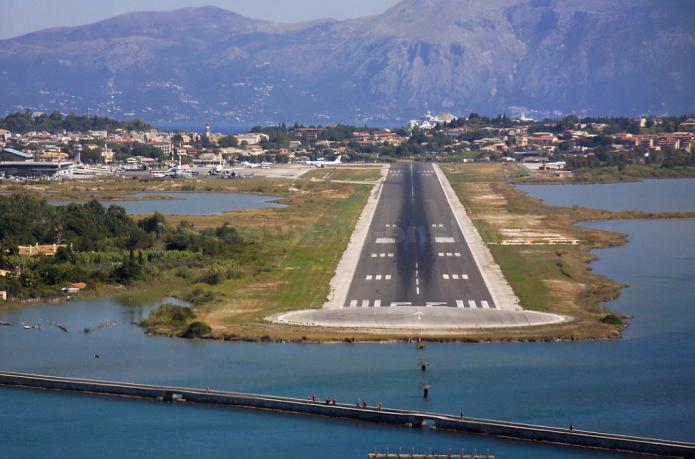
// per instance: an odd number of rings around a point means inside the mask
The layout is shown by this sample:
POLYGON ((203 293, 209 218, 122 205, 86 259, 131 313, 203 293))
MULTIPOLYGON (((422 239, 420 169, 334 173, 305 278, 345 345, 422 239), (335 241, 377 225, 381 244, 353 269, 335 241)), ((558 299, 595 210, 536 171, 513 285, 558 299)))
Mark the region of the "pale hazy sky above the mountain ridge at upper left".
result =
POLYGON ((48 27, 74 26, 129 11, 215 5, 271 21, 297 22, 378 14, 398 0, 0 0, 0 39, 48 27))

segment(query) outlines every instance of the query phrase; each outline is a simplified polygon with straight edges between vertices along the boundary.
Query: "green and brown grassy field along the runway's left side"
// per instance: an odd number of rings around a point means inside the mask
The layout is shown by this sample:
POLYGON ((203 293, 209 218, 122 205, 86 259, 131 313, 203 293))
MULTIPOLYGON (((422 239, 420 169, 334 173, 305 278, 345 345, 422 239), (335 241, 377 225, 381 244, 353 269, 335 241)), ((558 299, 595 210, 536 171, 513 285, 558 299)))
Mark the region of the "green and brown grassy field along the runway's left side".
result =
MULTIPOLYGON (((225 222, 252 241, 240 260, 243 276, 219 285, 197 284, 178 292, 196 302, 199 320, 213 334, 227 339, 300 339, 315 330, 294 336, 292 327, 264 321, 270 314, 295 309, 319 308, 326 301, 329 282, 349 241, 352 229, 371 189, 367 185, 298 182, 285 195, 282 209, 230 212, 219 216, 169 217, 188 220, 199 227, 225 222)), ((330 338, 330 337, 329 337, 330 338)), ((335 339, 333 336, 331 339, 335 339)))

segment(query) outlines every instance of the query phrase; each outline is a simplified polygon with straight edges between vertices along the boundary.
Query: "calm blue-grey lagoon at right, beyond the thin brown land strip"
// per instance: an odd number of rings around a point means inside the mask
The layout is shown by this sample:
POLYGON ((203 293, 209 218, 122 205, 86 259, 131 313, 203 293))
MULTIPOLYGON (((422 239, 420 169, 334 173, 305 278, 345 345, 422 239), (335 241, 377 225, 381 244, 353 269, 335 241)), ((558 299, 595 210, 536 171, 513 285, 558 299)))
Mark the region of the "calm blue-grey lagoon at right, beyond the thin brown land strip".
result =
POLYGON ((644 180, 604 185, 517 185, 546 204, 612 211, 695 210, 695 179, 644 180))

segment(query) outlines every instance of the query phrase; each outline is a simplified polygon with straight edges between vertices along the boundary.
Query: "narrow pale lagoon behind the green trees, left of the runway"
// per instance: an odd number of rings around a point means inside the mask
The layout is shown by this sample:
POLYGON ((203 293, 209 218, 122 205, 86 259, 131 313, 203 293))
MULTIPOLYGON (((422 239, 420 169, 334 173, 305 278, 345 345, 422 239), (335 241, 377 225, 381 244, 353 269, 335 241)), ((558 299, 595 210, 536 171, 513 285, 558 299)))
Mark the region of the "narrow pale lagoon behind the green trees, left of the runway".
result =
MULTIPOLYGON (((274 202, 276 196, 263 196, 245 193, 196 193, 196 192, 152 192, 137 193, 134 198, 148 196, 167 196, 173 199, 151 199, 145 201, 100 201, 108 207, 111 204, 125 208, 133 215, 146 215, 159 212, 164 215, 219 215, 232 210, 261 209, 266 207, 285 207, 274 202)), ((74 201, 52 201, 54 205, 66 205, 74 201)))

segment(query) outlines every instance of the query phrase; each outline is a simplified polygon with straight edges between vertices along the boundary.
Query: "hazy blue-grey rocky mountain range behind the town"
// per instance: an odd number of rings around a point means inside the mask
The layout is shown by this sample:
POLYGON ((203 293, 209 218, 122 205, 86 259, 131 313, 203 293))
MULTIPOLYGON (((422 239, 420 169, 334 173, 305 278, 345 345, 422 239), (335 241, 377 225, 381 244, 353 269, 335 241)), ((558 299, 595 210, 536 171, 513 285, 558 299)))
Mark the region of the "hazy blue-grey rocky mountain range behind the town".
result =
POLYGON ((0 40, 0 112, 152 122, 394 122, 695 108, 689 0, 404 0, 281 24, 216 7, 0 40))

